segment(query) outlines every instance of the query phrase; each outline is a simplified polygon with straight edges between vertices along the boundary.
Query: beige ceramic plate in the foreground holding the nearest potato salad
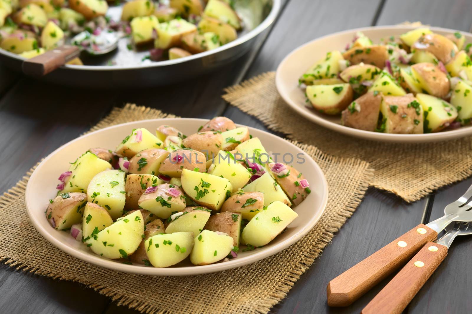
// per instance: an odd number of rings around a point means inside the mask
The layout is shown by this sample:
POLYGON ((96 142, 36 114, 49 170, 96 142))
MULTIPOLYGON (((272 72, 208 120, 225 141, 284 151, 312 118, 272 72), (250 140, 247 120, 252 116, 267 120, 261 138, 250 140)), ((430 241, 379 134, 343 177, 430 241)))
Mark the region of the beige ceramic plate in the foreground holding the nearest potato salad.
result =
POLYGON ((69 161, 74 161, 77 156, 92 147, 114 149, 115 145, 120 143, 133 128, 146 128, 153 131, 161 124, 168 124, 176 127, 184 134, 193 134, 199 126, 206 122, 207 120, 202 119, 155 119, 130 122, 95 131, 62 145, 46 157, 38 168, 34 170, 26 187, 26 209, 34 227, 46 240, 59 249, 85 262, 126 273, 160 276, 206 274, 251 264, 287 248, 308 233, 320 219, 328 201, 328 185, 323 172, 311 157, 304 154, 295 145, 280 137, 253 128, 249 128, 251 134, 253 137, 261 139, 267 151, 281 153, 279 156, 290 153, 295 158, 297 154, 303 154, 305 161, 301 164, 293 163, 292 165, 308 179, 312 190, 312 193, 299 206, 294 208, 299 216, 289 225, 287 231, 280 234, 263 248, 246 252, 240 251, 237 258, 231 259, 228 262, 205 266, 192 266, 188 261, 169 268, 126 265, 95 255, 84 244, 74 240, 68 232, 54 230, 49 225, 44 215, 44 210, 49 204, 49 199, 54 198, 56 195, 56 185, 59 182, 58 177, 68 168, 69 161))

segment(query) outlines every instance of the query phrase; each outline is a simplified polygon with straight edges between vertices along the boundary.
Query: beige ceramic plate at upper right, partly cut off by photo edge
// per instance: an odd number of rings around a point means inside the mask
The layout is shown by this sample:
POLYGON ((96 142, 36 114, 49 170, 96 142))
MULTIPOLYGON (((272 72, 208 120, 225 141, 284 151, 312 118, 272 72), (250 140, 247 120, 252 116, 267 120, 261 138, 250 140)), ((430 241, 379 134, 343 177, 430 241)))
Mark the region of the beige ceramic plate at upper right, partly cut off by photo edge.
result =
MULTIPOLYGON (((471 126, 428 134, 388 134, 358 130, 342 126, 339 116, 324 115, 322 113, 316 112, 311 106, 308 107, 305 105, 305 94, 303 89, 298 87, 298 78, 301 74, 303 74, 303 72, 306 71, 306 69, 315 63, 316 60, 325 56, 329 50, 344 50, 346 43, 351 42, 356 32, 363 32, 374 43, 378 43, 380 42, 381 38, 388 38, 392 35, 398 36, 415 28, 416 27, 412 26, 366 27, 344 32, 337 32, 316 40, 312 40, 303 46, 296 48, 279 64, 276 74, 276 85, 278 92, 280 96, 287 102, 287 104, 303 117, 325 128, 332 129, 339 133, 353 137, 361 137, 384 142, 421 143, 443 141, 471 135, 471 126)), ((446 28, 430 28, 433 32, 437 32, 439 34, 451 34, 456 32, 446 28)), ((471 33, 461 33, 465 36, 466 43, 472 42, 471 33)))

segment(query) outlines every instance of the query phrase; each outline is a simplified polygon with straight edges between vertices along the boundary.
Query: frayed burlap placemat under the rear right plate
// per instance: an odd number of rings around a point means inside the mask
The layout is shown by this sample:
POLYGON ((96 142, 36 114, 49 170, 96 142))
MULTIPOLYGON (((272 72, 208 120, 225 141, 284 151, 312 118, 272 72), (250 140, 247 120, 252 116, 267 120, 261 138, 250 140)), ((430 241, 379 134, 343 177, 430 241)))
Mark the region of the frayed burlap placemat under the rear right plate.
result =
POLYGON ((375 169, 369 182, 417 201, 441 186, 472 175, 472 138, 430 144, 386 144, 349 137, 303 118, 279 96, 275 72, 225 89, 231 105, 288 138, 315 145, 322 152, 368 161, 375 169))

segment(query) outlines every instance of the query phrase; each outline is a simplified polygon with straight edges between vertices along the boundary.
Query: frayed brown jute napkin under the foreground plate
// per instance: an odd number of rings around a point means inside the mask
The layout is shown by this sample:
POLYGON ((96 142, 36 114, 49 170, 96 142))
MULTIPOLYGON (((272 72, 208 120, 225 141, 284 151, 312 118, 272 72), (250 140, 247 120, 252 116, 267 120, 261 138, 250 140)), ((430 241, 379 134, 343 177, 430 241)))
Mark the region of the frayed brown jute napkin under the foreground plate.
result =
MULTIPOLYGON (((126 105, 93 128, 151 118, 173 117, 126 105)), ((81 282, 101 294, 148 313, 267 313, 312 265, 365 193, 372 170, 365 161, 323 154, 294 142, 318 162, 329 185, 329 201, 318 224, 302 240, 270 258, 215 274, 152 277, 118 273, 73 258, 47 242, 31 225, 25 209, 27 175, 0 197, 0 258, 34 274, 81 282), (27 239, 28 241, 25 241, 27 239)), ((313 187, 316 188, 316 187, 313 187)))

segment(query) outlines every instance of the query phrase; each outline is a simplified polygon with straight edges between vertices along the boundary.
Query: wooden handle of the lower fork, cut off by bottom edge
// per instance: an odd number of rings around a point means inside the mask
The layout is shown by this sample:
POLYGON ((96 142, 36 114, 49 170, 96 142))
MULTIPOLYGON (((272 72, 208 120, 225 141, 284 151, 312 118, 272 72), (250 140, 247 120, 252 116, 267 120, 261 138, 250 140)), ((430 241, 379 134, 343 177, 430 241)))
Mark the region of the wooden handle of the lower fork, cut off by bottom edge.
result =
POLYGON ((446 246, 434 242, 426 243, 364 307, 362 314, 401 314, 446 255, 446 246))

